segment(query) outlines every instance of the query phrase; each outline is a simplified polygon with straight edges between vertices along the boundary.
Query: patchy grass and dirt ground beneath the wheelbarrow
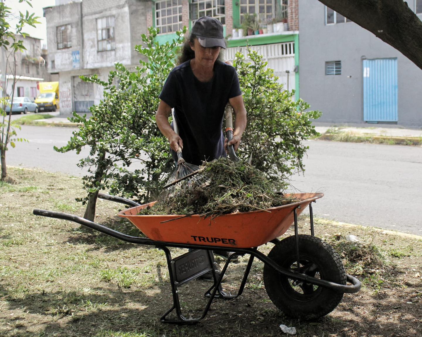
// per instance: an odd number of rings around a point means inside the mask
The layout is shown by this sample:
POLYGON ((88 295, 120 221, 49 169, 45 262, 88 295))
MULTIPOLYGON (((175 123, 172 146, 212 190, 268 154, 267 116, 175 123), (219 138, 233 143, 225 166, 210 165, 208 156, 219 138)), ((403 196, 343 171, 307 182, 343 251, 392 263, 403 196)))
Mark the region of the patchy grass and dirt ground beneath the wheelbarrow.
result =
MULTIPOLYGON (((369 272, 359 265, 347 270, 361 274, 362 289, 344 294, 332 313, 314 322, 286 318, 269 300, 263 264, 255 261, 241 297, 215 300, 198 324, 162 324, 160 317, 172 305, 162 251, 32 214, 40 208, 82 216, 84 207, 75 201, 84 194, 79 178, 17 168, 8 173, 13 180, 0 183, 0 336, 287 336, 280 324, 294 326, 298 336, 422 336, 422 240, 417 237, 319 219, 317 236, 352 233, 384 258, 382 267, 369 272)), ((96 222, 138 235, 115 216, 119 207, 99 201, 96 222)), ((308 222, 300 218, 301 233, 308 233, 308 222)), ((272 247, 269 243, 260 251, 272 247)), ((176 257, 185 250, 171 252, 176 257)), ((230 265, 226 291, 237 291, 247 260, 230 265)), ((200 314, 209 286, 195 280, 180 287, 186 316, 200 314)))

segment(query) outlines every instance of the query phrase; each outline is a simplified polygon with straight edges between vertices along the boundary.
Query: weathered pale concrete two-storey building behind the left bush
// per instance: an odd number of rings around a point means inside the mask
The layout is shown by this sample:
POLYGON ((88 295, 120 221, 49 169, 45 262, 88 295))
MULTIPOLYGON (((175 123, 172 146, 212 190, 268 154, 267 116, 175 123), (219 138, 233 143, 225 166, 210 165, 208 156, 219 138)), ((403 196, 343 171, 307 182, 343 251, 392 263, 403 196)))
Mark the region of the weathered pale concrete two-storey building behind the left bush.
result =
POLYGON ((49 71, 59 75, 60 114, 89 112, 103 99, 103 87, 80 75, 106 80, 115 62, 129 69, 139 65, 133 48, 147 32, 146 1, 84 0, 44 8, 49 45, 49 71))

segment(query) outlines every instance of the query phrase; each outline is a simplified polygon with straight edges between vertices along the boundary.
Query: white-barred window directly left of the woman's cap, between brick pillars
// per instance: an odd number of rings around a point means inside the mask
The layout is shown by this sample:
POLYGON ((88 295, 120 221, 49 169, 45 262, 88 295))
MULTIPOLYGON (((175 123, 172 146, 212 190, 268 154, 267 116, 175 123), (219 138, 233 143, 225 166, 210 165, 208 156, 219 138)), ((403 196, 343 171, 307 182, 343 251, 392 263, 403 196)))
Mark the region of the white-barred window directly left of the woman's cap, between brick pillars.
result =
POLYGON ((157 1, 155 27, 160 28, 160 33, 176 32, 182 29, 182 0, 157 1))

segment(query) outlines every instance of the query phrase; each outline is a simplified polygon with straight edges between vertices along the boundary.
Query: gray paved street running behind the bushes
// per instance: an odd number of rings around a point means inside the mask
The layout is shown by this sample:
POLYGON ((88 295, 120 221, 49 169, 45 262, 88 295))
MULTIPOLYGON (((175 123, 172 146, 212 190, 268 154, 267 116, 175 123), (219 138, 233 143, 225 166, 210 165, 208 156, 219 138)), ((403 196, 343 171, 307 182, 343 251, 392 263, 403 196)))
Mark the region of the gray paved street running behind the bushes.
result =
MULTIPOLYGON (((58 153, 74 128, 22 126, 18 143, 7 153, 11 166, 38 167, 82 177, 81 156, 58 153)), ((292 185, 304 192, 323 192, 314 204, 315 217, 422 235, 422 148, 400 145, 307 141, 304 176, 292 185)))

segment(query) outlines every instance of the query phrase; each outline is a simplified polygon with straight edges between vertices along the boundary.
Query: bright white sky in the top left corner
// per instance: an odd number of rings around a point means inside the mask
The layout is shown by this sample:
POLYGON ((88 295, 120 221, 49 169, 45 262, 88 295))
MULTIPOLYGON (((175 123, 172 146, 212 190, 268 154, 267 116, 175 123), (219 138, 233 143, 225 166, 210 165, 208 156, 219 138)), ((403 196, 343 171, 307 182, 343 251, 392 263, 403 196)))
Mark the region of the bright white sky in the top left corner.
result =
MULTIPOLYGON (((31 26, 25 26, 24 32, 28 33, 32 37, 38 37, 41 39, 41 45, 47 44, 47 26, 46 26, 46 18, 43 17, 43 7, 54 6, 56 4, 55 0, 32 0, 30 3, 32 4, 32 8, 28 5, 25 1, 19 3, 19 0, 3 0, 5 5, 11 8, 12 13, 19 15, 19 11, 22 13, 26 13, 28 11, 30 14, 35 13, 35 16, 39 16, 40 24, 36 25, 36 28, 31 26)), ((11 27, 14 27, 15 24, 11 23, 11 27)))

